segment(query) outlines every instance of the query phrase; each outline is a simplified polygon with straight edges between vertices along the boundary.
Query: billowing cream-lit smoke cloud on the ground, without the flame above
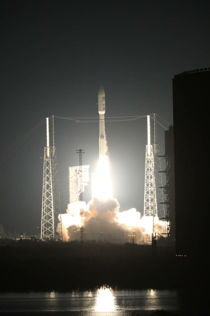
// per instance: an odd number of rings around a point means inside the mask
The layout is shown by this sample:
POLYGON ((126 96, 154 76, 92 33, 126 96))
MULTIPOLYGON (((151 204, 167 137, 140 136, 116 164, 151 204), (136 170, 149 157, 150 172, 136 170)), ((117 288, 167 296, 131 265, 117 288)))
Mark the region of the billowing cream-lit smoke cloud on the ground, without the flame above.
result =
MULTIPOLYGON (((68 204, 67 213, 61 214, 63 240, 80 240, 80 208, 84 210, 84 234, 87 240, 108 240, 116 243, 143 242, 146 234, 151 234, 152 217, 143 216, 136 209, 120 212, 116 198, 106 201, 94 197, 85 202, 68 204)), ((59 217, 60 219, 60 217, 59 217)), ((165 223, 154 219, 156 232, 165 230, 165 223)), ((59 224, 61 225, 61 223, 59 224)), ((60 227, 57 231, 59 232, 60 227)))

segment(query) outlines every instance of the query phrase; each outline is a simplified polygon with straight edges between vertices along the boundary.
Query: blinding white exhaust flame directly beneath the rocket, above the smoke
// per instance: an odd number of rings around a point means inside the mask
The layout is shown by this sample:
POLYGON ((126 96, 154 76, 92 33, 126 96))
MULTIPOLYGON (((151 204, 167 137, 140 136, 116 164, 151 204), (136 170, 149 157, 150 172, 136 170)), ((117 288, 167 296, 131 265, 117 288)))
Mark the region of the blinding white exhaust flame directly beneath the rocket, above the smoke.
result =
POLYGON ((107 156, 101 156, 98 161, 92 196, 103 201, 112 197, 110 168, 107 156))

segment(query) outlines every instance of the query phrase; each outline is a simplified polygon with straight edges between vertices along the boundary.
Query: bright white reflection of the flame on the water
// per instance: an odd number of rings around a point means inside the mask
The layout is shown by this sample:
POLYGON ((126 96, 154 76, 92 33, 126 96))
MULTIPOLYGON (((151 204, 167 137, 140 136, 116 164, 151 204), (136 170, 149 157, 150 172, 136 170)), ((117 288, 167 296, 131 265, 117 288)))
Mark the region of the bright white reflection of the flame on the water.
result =
POLYGON ((97 312, 113 312, 115 311, 114 296, 109 288, 101 287, 96 297, 97 312))

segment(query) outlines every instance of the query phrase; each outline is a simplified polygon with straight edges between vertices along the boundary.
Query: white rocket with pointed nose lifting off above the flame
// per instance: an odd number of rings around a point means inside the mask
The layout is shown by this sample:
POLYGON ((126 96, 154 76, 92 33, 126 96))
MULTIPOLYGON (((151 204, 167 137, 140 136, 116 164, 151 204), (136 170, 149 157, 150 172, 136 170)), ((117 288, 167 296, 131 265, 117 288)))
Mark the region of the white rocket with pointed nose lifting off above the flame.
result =
POLYGON ((99 157, 104 157, 106 152, 106 136, 105 136, 105 92, 102 86, 98 89, 98 113, 99 113, 99 157))

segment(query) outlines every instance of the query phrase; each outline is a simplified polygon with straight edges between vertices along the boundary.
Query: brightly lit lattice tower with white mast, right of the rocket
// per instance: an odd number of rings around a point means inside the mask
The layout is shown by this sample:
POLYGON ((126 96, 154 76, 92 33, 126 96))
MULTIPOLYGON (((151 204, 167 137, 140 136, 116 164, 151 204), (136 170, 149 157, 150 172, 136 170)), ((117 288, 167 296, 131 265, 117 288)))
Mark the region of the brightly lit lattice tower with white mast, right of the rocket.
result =
POLYGON ((154 217, 157 216, 157 200, 155 190, 154 176, 154 155, 153 148, 150 144, 150 117, 147 116, 148 144, 146 145, 146 161, 145 161, 145 187, 144 187, 144 216, 153 216, 153 232, 154 217))

